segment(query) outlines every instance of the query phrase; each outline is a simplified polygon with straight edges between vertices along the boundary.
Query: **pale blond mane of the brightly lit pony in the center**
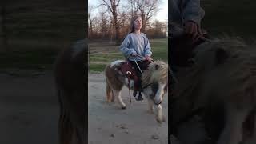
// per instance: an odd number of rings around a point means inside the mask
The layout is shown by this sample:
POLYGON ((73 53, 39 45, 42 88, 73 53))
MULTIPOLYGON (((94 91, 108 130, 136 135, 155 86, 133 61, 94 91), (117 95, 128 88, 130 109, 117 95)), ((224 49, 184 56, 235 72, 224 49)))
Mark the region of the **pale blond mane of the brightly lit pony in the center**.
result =
POLYGON ((168 78, 168 64, 162 61, 151 62, 148 70, 142 75, 142 86, 152 82, 166 82, 168 78))

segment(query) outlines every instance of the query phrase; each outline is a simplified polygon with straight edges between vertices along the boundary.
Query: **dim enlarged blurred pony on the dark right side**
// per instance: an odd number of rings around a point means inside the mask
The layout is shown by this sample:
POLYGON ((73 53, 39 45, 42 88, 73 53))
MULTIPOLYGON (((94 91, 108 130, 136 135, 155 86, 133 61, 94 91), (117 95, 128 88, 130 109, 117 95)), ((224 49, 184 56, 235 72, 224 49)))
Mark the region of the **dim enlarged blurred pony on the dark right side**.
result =
POLYGON ((201 109, 218 144, 256 143, 255 46, 223 38, 196 50, 194 65, 177 74, 171 126, 201 109))

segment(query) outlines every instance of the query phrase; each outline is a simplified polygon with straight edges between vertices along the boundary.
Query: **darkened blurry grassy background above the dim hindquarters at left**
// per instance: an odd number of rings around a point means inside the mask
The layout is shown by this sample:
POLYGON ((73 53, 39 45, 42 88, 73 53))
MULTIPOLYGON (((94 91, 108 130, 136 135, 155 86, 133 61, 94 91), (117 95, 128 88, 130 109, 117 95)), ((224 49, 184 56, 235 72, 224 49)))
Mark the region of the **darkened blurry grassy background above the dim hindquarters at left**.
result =
POLYGON ((76 0, 6 1, 6 30, 7 47, 0 37, 0 70, 52 70, 60 50, 86 37, 86 5, 76 0))

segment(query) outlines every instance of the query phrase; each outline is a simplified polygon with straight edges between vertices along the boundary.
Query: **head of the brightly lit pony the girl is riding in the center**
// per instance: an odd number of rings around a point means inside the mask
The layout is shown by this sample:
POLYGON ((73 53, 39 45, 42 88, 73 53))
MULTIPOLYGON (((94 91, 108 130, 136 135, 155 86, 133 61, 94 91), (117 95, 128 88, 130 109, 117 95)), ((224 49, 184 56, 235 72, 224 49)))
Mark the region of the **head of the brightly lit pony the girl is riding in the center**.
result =
POLYGON ((142 75, 143 93, 149 96, 156 105, 162 102, 167 92, 168 64, 162 61, 151 62, 148 70, 142 75))

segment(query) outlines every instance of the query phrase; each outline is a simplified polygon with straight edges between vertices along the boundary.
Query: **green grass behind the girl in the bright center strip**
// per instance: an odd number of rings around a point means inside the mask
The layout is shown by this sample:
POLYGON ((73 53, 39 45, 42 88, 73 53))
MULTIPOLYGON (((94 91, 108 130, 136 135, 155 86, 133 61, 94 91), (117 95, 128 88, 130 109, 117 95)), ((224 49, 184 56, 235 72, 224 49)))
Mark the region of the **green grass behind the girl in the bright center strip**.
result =
MULTIPOLYGON (((168 39, 151 39, 150 46, 152 48, 154 60, 162 60, 168 62, 168 39)), ((89 70, 103 71, 106 64, 114 60, 124 59, 119 51, 119 46, 114 43, 91 43, 89 44, 89 70)))

